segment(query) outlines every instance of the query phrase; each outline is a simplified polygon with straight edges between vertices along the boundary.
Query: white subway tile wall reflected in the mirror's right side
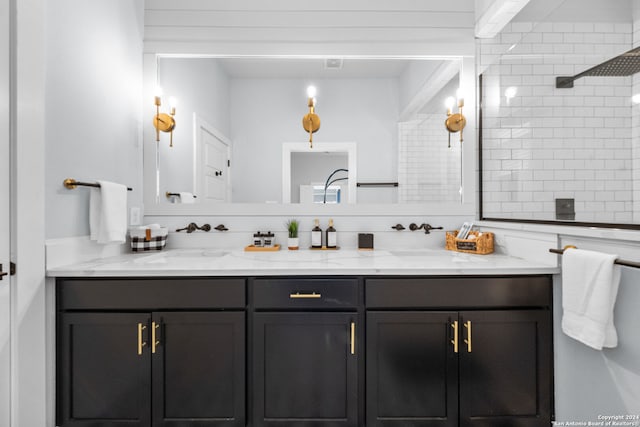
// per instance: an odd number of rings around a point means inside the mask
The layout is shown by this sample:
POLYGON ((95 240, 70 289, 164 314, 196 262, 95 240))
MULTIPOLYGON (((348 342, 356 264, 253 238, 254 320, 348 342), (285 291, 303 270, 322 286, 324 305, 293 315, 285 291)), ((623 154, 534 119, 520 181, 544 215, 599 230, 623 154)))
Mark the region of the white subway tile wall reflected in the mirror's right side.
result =
POLYGON ((448 148, 442 108, 442 114, 421 114, 398 124, 400 203, 460 200, 460 134, 451 135, 448 148))

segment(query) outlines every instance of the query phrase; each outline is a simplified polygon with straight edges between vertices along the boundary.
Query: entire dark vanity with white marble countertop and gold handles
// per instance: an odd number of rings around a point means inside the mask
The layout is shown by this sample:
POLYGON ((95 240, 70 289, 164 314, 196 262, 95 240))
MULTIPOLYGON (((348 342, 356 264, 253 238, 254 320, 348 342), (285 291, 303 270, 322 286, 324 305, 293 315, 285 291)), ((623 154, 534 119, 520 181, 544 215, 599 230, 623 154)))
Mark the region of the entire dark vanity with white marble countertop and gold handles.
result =
POLYGON ((555 268, 434 252, 431 269, 344 251, 299 253, 308 274, 286 252, 50 271, 57 423, 548 426, 555 268))

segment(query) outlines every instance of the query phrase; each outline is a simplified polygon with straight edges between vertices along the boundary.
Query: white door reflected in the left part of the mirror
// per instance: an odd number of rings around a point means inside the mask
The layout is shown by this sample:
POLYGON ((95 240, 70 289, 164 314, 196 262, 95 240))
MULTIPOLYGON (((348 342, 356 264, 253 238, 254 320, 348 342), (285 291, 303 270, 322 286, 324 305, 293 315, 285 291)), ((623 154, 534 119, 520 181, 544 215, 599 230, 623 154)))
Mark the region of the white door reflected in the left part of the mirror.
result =
POLYGON ((199 201, 231 201, 231 141, 194 115, 194 187, 199 201))

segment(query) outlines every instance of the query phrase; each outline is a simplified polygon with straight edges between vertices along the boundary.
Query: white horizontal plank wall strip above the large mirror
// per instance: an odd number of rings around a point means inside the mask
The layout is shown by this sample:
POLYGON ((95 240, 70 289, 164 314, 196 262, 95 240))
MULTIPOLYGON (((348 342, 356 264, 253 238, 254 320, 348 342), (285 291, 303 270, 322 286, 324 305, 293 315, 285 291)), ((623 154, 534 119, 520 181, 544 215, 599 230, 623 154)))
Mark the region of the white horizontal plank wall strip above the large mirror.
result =
POLYGON ((147 53, 474 52, 474 0, 145 0, 147 53))

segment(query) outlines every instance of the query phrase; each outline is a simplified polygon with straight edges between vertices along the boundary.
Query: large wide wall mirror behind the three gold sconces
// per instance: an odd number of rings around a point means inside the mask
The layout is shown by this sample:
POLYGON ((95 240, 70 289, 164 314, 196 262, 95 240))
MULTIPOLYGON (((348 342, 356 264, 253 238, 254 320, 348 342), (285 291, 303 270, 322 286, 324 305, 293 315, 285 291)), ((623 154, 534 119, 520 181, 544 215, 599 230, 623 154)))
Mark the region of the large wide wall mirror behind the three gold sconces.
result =
POLYGON ((175 97, 176 126, 157 141, 145 123, 147 214, 474 212, 472 58, 148 54, 149 118, 156 86, 160 112, 175 97), (302 125, 311 85, 313 145, 302 125), (444 126, 460 87, 464 142, 444 126))

